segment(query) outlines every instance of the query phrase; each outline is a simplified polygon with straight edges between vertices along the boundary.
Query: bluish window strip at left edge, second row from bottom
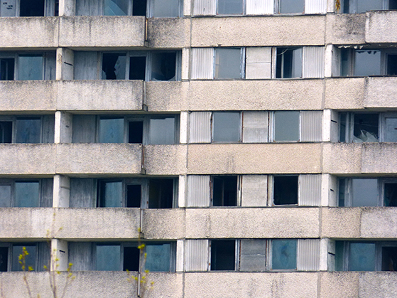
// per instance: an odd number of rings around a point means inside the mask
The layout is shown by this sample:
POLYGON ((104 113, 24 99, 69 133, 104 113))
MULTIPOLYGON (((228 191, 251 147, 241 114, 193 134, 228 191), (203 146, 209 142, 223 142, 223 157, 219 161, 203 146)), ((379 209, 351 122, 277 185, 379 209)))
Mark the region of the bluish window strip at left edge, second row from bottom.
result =
POLYGON ((0 179, 0 207, 52 207, 53 179, 0 179))

